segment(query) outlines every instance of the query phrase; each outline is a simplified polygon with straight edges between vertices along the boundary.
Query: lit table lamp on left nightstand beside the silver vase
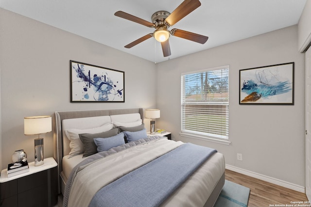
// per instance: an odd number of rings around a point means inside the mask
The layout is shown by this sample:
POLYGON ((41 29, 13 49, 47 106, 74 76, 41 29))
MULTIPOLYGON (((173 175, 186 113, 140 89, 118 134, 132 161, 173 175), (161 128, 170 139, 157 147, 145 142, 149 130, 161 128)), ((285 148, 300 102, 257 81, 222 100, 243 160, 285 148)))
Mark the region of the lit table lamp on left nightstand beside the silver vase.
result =
POLYGON ((52 116, 29 116, 24 118, 24 134, 38 135, 35 139, 35 166, 44 163, 43 138, 40 134, 52 131, 52 116))

